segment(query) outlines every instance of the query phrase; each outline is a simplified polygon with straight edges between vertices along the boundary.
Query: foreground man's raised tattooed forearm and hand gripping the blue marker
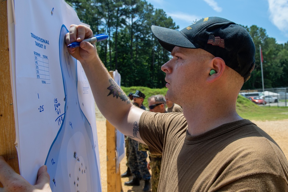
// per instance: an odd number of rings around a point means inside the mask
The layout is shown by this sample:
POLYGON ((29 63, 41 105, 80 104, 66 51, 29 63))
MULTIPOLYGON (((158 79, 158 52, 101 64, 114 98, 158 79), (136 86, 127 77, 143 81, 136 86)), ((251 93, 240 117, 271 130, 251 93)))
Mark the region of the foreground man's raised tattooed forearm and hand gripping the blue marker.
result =
MULTIPOLYGON (((67 45, 93 37, 90 28, 71 25, 65 40, 67 45)), ((96 104, 104 117, 123 134, 143 142, 139 134, 139 120, 144 110, 135 107, 109 75, 97 54, 94 44, 83 41, 80 47, 68 48, 79 60, 91 85, 96 104)))

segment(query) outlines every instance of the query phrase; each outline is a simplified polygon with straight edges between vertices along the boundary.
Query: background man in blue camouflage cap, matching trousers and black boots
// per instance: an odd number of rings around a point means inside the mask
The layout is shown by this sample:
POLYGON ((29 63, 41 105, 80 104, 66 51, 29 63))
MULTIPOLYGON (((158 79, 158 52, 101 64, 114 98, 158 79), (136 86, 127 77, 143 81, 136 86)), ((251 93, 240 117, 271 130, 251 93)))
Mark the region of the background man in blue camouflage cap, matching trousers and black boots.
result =
MULTIPOLYGON (((133 96, 133 103, 138 104, 138 107, 146 110, 146 107, 143 105, 143 101, 145 99, 145 94, 141 91, 136 90, 133 96)), ((124 185, 128 186, 139 186, 140 180, 143 179, 145 181, 143 191, 150 191, 150 178, 151 175, 147 168, 147 151, 139 151, 138 150, 138 141, 132 138, 128 138, 128 150, 129 150, 129 168, 133 174, 133 178, 130 181, 124 183, 124 185)))

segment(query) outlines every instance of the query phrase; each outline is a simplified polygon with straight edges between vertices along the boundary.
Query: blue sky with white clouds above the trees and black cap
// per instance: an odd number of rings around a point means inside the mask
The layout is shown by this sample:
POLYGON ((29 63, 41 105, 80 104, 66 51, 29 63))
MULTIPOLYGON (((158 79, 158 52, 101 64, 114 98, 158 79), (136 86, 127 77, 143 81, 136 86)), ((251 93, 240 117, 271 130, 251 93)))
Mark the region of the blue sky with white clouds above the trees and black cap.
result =
POLYGON ((217 16, 250 27, 266 29, 277 43, 288 41, 288 0, 146 0, 163 9, 179 30, 195 20, 217 16))

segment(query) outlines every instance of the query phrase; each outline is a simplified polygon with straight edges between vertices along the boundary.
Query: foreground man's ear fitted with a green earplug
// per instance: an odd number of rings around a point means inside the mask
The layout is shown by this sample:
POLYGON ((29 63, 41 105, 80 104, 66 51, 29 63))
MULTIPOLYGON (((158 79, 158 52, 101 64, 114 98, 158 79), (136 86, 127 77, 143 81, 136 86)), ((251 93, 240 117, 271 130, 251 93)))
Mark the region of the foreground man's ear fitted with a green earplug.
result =
POLYGON ((213 83, 214 81, 221 78, 225 69, 225 61, 220 57, 214 57, 209 64, 210 68, 207 71, 207 82, 213 83), (214 70, 215 73, 211 70, 214 70), (212 74, 212 75, 210 75, 212 74))

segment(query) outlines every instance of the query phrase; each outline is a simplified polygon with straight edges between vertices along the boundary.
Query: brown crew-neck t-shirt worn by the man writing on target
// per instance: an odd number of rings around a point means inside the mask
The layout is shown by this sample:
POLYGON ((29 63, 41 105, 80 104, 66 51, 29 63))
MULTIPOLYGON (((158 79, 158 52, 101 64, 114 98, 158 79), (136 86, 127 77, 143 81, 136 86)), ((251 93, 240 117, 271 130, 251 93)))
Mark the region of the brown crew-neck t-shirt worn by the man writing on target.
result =
POLYGON ((139 132, 163 155, 158 191, 288 191, 285 155, 247 119, 191 136, 183 113, 146 111, 139 132))

